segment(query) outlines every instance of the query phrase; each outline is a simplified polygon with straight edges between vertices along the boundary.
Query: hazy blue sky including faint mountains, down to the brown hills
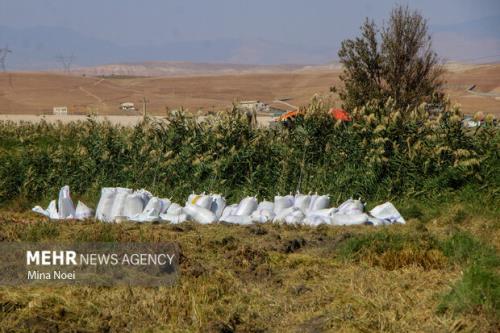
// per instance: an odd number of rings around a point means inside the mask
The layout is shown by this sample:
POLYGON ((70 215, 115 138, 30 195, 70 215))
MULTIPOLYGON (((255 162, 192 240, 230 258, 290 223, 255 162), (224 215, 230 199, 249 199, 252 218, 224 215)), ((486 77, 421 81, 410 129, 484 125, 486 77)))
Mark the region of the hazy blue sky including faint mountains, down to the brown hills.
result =
POLYGON ((396 4, 429 19, 444 60, 500 60, 500 0, 0 0, 16 69, 141 61, 321 64, 396 4))

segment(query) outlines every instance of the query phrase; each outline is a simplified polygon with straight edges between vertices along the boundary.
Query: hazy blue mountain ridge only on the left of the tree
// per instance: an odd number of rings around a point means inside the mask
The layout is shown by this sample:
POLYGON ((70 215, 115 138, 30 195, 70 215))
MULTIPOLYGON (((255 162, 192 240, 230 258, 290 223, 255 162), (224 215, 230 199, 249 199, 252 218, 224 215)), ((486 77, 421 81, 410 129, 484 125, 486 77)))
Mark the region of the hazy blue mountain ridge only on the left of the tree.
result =
MULTIPOLYGON (((0 47, 12 49, 13 70, 62 67, 57 55, 74 55, 79 67, 115 63, 174 61, 231 64, 322 64, 336 58, 336 47, 306 47, 267 40, 216 39, 122 46, 60 27, 12 29, 0 26, 0 47)), ((150 65, 148 65, 150 67, 150 65)))

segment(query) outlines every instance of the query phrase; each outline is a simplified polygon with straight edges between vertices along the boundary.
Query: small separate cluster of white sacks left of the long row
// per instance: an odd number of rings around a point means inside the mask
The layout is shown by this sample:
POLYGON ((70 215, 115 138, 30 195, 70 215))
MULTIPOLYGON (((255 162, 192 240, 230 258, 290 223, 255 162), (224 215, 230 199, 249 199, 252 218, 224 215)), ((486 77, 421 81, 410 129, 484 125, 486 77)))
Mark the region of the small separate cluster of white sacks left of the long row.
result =
POLYGON ((78 201, 76 208, 71 200, 69 186, 63 186, 59 191, 59 199, 52 200, 47 209, 35 206, 33 211, 47 216, 53 220, 78 219, 84 220, 94 216, 94 211, 87 207, 83 202, 78 201), (57 203, 56 203, 57 202, 57 203))

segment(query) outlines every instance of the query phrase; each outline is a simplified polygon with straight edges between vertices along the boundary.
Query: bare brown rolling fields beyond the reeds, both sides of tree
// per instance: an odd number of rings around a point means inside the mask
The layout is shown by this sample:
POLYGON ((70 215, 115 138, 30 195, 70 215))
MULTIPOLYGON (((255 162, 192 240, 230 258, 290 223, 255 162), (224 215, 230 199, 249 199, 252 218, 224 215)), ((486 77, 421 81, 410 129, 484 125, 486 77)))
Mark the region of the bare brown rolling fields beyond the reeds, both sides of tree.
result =
MULTIPOLYGON (((500 116, 500 64, 448 67, 447 89, 452 102, 465 113, 483 111, 500 116), (467 92, 475 91, 490 95, 467 92)), ((123 115, 121 102, 130 101, 162 115, 166 108, 212 111, 234 101, 258 99, 272 102, 289 97, 293 105, 307 104, 313 94, 328 94, 339 85, 339 70, 291 71, 184 77, 99 78, 55 73, 0 74, 0 114, 50 114, 53 106, 67 106, 71 114, 123 115)), ((136 113, 137 114, 137 113, 136 113)))

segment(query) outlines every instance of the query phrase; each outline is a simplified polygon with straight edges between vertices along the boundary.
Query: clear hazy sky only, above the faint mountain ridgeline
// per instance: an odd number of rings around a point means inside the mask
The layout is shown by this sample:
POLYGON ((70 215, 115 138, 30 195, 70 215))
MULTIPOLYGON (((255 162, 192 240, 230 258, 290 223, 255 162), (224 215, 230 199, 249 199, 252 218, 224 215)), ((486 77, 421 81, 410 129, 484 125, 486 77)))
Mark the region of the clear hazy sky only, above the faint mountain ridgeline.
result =
MULTIPOLYGON (((393 0, 0 0, 0 25, 59 26, 120 45, 223 38, 325 45, 382 21, 393 0)), ((500 15, 499 0, 417 0, 432 25, 500 15)), ((500 32, 497 32, 500 35, 500 32)))

